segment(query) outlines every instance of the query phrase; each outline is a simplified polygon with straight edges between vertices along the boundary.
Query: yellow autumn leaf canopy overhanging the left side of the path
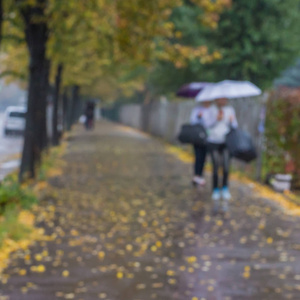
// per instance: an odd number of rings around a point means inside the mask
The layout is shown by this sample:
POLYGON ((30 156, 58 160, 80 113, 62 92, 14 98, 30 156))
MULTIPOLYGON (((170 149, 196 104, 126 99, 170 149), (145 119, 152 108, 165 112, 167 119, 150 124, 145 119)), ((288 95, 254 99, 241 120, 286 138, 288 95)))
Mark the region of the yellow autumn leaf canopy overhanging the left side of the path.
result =
MULTIPOLYGON (((36 3, 28 1, 32 5, 36 3)), ((231 4, 231 0, 192 2, 202 8, 203 15, 199 18, 209 27, 217 26, 219 14, 231 4)), ((126 69, 127 72, 137 66, 150 69, 157 59, 171 61, 182 68, 193 59, 210 63, 221 58, 219 52, 209 53, 205 45, 191 47, 180 43, 182 33, 175 28, 170 16, 176 7, 183 5, 182 0, 48 0, 46 4, 47 57, 51 60, 52 83, 60 64, 64 66, 63 86, 78 85, 96 94, 99 83, 107 81, 107 77, 114 77, 117 82, 126 69)), ((20 20, 19 16, 17 19, 20 20)), ((9 24, 16 30, 13 23, 9 24)), ((17 30, 23 33, 22 22, 20 24, 21 30, 17 30)), ((9 61, 12 66, 14 61, 22 61, 24 68, 6 66, 12 74, 26 70, 28 63, 25 46, 13 47, 9 53, 18 59, 10 56, 9 61)), ((117 88, 110 85, 108 98, 116 96, 115 90, 126 95, 141 90, 144 80, 145 76, 126 82, 120 80, 117 88)))

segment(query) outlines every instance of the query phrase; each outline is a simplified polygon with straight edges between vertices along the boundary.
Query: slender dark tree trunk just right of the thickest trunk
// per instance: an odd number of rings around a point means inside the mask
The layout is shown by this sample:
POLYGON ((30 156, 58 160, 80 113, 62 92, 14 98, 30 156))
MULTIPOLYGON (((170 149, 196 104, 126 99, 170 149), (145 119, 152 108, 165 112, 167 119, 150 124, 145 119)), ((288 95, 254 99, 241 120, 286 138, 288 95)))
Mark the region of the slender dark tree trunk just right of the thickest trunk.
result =
POLYGON ((52 145, 57 146, 59 144, 59 132, 57 129, 58 126, 58 104, 60 96, 60 85, 63 72, 63 65, 59 64, 56 71, 55 77, 55 89, 53 97, 53 115, 52 115, 52 145))

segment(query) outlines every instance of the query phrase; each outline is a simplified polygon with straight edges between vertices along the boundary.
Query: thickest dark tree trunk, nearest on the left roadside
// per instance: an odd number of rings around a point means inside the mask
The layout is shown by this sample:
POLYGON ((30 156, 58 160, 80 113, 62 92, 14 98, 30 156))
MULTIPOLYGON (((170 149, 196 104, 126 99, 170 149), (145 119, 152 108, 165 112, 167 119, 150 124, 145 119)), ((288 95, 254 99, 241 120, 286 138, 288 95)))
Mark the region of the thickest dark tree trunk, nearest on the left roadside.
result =
POLYGON ((44 17, 45 0, 39 0, 36 6, 23 6, 21 10, 25 23, 25 36, 29 49, 29 87, 25 139, 19 180, 35 176, 36 162, 41 151, 47 145, 46 100, 48 89, 49 61, 46 60, 48 39, 47 24, 32 22, 33 17, 44 17))

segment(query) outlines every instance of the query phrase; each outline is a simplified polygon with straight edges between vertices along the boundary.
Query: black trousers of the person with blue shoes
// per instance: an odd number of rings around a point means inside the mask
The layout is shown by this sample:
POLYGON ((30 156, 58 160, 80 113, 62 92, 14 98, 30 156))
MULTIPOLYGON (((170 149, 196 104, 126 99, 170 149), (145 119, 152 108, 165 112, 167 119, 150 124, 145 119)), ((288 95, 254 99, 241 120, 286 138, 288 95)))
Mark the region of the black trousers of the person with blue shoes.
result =
POLYGON ((222 187, 228 186, 230 154, 225 144, 208 144, 209 153, 211 155, 213 165, 213 189, 219 187, 219 169, 223 169, 222 187))

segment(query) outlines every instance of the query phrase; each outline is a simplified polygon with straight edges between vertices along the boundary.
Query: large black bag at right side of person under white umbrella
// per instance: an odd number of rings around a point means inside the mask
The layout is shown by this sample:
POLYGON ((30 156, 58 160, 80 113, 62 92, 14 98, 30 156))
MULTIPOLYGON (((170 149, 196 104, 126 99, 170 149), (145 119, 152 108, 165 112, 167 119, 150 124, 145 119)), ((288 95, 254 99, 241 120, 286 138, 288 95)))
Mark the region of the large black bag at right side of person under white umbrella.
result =
POLYGON ((226 146, 230 155, 239 160, 250 162, 257 157, 251 136, 241 129, 233 129, 227 134, 226 146))

